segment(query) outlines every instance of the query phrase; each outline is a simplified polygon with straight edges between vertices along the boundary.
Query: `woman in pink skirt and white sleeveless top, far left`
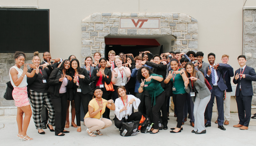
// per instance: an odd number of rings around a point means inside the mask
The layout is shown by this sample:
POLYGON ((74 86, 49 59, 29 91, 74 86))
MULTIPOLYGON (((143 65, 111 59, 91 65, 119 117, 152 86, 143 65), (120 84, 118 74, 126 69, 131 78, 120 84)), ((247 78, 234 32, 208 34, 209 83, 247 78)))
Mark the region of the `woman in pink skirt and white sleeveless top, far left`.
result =
POLYGON ((27 91, 27 77, 32 78, 35 75, 37 66, 33 64, 24 64, 25 63, 25 58, 26 55, 23 52, 16 51, 14 54, 15 58, 15 65, 11 67, 9 75, 10 75, 10 80, 13 86, 13 91, 12 91, 12 97, 15 101, 15 106, 17 106, 17 124, 19 128, 19 132, 17 137, 19 139, 24 139, 26 141, 33 140, 33 138, 30 138, 27 136, 27 129, 29 125, 29 121, 32 115, 32 111, 30 108, 30 104, 28 101, 28 91, 27 91), (20 67, 24 65, 23 70, 20 69, 20 67), (28 68, 29 67, 34 68, 34 70, 31 73, 28 73, 28 68), (23 113, 25 113, 25 117, 23 120, 23 113), (22 121, 23 120, 23 121, 22 121), (22 123, 23 123, 23 128, 22 128, 22 123))

